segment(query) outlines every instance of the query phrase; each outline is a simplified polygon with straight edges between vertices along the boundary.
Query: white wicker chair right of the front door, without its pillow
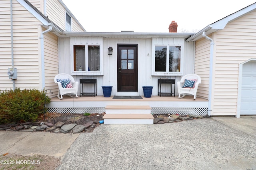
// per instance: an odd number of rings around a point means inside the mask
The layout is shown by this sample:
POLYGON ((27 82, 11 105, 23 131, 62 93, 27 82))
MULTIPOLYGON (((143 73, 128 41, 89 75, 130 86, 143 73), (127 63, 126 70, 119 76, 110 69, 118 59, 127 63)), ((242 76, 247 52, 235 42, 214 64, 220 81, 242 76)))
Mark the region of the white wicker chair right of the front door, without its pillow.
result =
POLYGON ((200 76, 196 75, 196 74, 187 74, 185 76, 183 76, 181 78, 181 80, 179 82, 177 82, 177 86, 178 86, 178 93, 179 96, 178 98, 184 98, 184 96, 186 96, 186 94, 192 94, 194 96, 194 99, 196 99, 196 92, 198 89, 198 85, 201 83, 201 78, 200 76), (184 85, 185 79, 187 80, 196 80, 195 82, 195 87, 194 88, 182 88, 182 86, 184 85), (182 95, 182 97, 180 97, 180 95, 182 95))

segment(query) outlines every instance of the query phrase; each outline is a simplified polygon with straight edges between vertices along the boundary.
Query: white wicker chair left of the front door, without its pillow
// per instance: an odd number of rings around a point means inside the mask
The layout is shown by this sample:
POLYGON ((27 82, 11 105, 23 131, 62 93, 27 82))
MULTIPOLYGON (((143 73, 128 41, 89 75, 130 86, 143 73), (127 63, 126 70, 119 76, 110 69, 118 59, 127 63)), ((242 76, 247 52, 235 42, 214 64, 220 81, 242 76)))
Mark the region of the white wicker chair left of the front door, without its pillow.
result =
POLYGON ((72 76, 70 76, 69 74, 57 74, 55 77, 54 77, 54 82, 58 84, 58 87, 59 87, 59 92, 58 92, 58 95, 57 97, 59 99, 63 99, 62 95, 64 94, 73 94, 73 96, 69 95, 70 97, 78 97, 77 96, 77 93, 78 93, 78 82, 75 82, 74 78, 72 76), (61 83, 60 82, 57 82, 56 79, 70 79, 71 83, 72 83, 72 88, 63 88, 61 86, 61 83))

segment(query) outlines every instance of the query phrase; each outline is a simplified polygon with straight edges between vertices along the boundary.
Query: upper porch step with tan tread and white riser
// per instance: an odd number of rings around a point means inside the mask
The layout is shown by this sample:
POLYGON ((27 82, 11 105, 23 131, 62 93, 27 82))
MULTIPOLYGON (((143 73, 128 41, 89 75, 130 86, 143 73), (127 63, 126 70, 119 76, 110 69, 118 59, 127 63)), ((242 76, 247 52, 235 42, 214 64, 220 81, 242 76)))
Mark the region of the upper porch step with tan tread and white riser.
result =
POLYGON ((106 114, 150 114, 150 106, 118 106, 108 105, 105 107, 106 114))

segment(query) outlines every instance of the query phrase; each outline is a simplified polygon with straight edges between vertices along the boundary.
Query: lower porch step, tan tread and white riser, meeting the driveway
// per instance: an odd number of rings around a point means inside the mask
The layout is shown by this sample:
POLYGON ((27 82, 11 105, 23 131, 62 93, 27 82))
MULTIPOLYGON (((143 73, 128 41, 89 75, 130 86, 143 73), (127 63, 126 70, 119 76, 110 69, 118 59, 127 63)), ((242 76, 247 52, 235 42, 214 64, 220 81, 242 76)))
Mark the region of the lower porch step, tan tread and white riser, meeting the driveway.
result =
POLYGON ((151 114, 105 114, 104 124, 154 124, 151 114))

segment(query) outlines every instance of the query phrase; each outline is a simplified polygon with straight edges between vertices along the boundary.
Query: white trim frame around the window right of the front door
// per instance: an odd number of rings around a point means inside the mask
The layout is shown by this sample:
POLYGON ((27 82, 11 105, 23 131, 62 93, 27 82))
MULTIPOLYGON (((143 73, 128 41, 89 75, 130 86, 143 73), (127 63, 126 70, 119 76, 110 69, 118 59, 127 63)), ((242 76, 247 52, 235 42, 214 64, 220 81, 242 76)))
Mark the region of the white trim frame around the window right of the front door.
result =
MULTIPOLYGON (((168 52, 169 53, 169 52, 168 52)), ((166 53, 166 55, 168 54, 166 53)), ((153 44, 152 45, 152 76, 182 76, 183 75, 183 60, 184 60, 184 45, 182 44, 153 44), (156 46, 166 46, 167 51, 170 46, 180 46, 180 71, 179 72, 169 72, 169 71, 155 71, 155 58, 156 58, 156 46)), ((166 56, 166 62, 169 61, 169 56, 166 56)), ((166 63, 166 70, 168 70, 169 64, 166 63)))

